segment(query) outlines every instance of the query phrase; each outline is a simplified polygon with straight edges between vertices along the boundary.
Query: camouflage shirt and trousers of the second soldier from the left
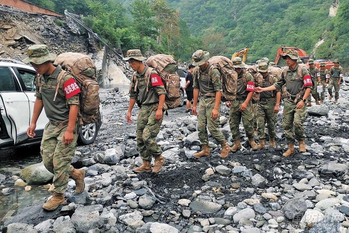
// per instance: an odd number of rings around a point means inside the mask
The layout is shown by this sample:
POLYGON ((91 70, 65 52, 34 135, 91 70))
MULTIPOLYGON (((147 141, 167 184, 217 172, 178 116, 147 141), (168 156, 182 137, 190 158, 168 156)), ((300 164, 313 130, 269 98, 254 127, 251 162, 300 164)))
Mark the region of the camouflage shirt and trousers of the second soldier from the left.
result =
MULTIPOLYGON (((166 95, 166 90, 164 84, 153 86, 152 82, 148 82, 148 69, 151 68, 146 66, 142 73, 134 73, 130 84, 130 98, 138 100, 141 104, 137 119, 137 147, 142 159, 151 162, 152 157, 158 158, 162 154, 156 137, 163 119, 156 120, 155 115, 159 106, 159 95, 166 95)), ((150 74, 158 73, 152 69, 150 74)))

